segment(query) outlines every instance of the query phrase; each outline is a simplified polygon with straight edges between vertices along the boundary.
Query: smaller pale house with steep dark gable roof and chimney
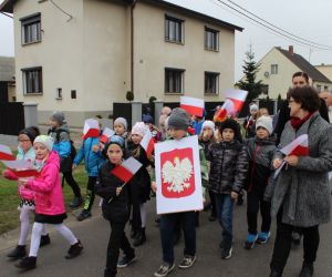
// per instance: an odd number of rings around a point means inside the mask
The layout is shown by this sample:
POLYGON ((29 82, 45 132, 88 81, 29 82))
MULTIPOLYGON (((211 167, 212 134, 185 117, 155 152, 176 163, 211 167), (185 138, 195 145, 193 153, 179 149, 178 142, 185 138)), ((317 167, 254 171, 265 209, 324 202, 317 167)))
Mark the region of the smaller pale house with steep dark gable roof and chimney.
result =
POLYGON ((262 81, 262 92, 270 99, 278 99, 280 94, 286 99, 286 94, 291 86, 293 73, 298 71, 307 72, 309 82, 319 91, 332 89, 332 82, 323 73, 317 70, 302 55, 294 53, 293 47, 289 50, 272 48, 260 61, 260 69, 257 80, 262 81))

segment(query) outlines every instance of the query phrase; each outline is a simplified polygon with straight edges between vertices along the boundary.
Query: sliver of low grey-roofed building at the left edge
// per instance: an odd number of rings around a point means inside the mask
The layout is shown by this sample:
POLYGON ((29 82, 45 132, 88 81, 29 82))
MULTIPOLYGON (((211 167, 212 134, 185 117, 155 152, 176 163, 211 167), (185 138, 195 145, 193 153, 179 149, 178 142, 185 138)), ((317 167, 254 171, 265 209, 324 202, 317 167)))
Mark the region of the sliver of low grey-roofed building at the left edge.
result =
POLYGON ((0 103, 17 101, 14 63, 14 58, 0 57, 0 103))

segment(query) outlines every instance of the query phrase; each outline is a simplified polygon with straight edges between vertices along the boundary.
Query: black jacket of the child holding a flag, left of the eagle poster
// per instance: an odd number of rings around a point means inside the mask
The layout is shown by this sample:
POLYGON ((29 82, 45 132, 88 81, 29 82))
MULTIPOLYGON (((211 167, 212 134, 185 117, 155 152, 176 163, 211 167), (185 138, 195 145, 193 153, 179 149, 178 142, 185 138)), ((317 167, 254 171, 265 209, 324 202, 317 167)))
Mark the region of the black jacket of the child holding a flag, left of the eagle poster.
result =
POLYGON ((126 223, 129 218, 129 196, 128 187, 125 185, 118 196, 116 196, 116 187, 123 185, 123 181, 111 173, 115 167, 107 161, 100 170, 95 184, 95 193, 103 201, 103 216, 105 219, 115 223, 126 223))

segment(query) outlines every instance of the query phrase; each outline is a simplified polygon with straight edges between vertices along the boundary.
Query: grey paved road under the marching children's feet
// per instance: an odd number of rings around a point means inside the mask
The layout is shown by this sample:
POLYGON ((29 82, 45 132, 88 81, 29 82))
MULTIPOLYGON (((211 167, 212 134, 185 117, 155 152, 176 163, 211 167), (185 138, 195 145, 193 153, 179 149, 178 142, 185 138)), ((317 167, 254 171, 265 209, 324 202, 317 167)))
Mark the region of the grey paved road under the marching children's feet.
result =
MULTIPOLYGON (((160 264, 160 242, 158 228, 154 226, 155 202, 149 203, 149 225, 147 227, 147 243, 136 249, 137 261, 128 268, 122 269, 122 277, 148 277, 160 264)), ((38 268, 19 274, 19 270, 6 258, 6 250, 0 252, 0 276, 103 276, 105 252, 107 246, 110 227, 100 216, 100 208, 95 207, 94 216, 83 223, 69 222, 72 230, 81 238, 85 250, 82 256, 73 260, 63 258, 68 245, 56 233, 52 233, 52 244, 40 250, 38 268)), ((266 277, 269 276, 269 261, 272 252, 272 239, 263 246, 258 245, 252 250, 242 248, 246 237, 246 209, 236 207, 235 211, 235 247, 229 260, 220 259, 219 242, 220 226, 218 223, 208 222, 208 213, 201 213, 200 227, 197 229, 197 263, 186 270, 175 269, 169 276, 176 277, 266 277)), ((321 226, 321 246, 315 265, 317 277, 332 276, 332 224, 321 226)), ((273 226, 274 230, 274 226, 273 226)), ((51 229, 51 232, 53 232, 51 229)), ((273 232, 274 233, 274 232, 273 232)), ((176 246, 176 261, 181 259, 183 240, 176 246)), ((298 276, 302 263, 302 248, 291 252, 284 276, 298 276)))

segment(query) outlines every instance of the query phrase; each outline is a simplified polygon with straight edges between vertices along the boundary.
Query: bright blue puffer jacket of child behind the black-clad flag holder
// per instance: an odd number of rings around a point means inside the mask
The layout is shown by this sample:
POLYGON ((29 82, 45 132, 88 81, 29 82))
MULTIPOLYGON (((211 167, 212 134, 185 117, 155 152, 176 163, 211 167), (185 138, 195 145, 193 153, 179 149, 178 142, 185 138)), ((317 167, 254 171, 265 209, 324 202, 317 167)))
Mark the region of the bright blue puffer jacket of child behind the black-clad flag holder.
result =
POLYGON ((102 165, 105 163, 102 152, 93 152, 92 147, 98 145, 100 137, 89 137, 83 142, 79 153, 74 158, 74 164, 79 165, 83 158, 85 162, 85 170, 89 176, 96 177, 102 165))

